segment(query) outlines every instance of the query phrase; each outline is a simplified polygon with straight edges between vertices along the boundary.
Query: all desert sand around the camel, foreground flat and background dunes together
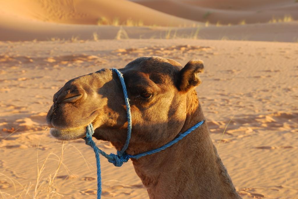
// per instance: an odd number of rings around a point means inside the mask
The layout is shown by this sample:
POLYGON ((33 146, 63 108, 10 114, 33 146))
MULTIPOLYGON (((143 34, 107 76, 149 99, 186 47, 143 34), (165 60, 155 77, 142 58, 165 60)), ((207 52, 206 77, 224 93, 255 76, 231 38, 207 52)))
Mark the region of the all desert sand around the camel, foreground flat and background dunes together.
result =
MULTIPOLYGON (((0 198, 96 198, 93 150, 49 135, 53 94, 152 55, 204 61, 198 97, 244 199, 298 198, 298 3, 61 2, 0 0, 0 198)), ((101 165, 103 198, 149 198, 131 161, 101 165)))

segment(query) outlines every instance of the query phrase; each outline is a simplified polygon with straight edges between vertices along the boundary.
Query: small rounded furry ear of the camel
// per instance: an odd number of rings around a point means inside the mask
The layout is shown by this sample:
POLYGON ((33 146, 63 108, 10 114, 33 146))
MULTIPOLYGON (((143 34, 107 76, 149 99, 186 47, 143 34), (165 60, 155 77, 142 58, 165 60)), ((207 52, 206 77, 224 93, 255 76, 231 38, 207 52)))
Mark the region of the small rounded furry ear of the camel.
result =
POLYGON ((204 71, 204 63, 201 60, 190 60, 179 72, 178 89, 184 92, 201 84, 197 73, 204 71))

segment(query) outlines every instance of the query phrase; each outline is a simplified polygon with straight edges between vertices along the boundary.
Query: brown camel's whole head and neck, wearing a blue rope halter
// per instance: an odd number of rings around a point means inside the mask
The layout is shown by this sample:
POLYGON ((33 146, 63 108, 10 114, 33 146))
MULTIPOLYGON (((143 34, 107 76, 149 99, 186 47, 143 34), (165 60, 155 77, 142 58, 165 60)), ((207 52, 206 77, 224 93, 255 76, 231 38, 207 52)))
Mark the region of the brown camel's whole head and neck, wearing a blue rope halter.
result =
MULTIPOLYGON (((201 60, 184 67, 162 57, 140 57, 119 69, 125 79, 132 115, 126 153, 135 155, 170 142, 205 120, 195 87, 201 60)), ((85 137, 92 123, 98 140, 117 150, 127 134, 126 107, 117 74, 110 69, 66 82, 53 97, 46 120, 59 140, 85 137)), ((132 159, 150 199, 239 199, 209 136, 206 122, 164 151, 132 159)))

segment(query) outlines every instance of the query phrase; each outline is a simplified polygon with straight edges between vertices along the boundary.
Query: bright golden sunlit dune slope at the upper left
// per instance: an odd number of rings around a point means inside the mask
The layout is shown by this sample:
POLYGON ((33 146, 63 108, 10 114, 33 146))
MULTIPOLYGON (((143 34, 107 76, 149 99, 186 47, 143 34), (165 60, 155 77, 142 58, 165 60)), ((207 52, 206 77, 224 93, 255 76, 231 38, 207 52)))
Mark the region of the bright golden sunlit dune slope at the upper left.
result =
POLYGON ((128 21, 142 25, 192 26, 197 23, 127 0, 1 0, 0 13, 2 18, 11 15, 23 19, 72 24, 97 25, 111 24, 114 21, 121 25, 128 21))

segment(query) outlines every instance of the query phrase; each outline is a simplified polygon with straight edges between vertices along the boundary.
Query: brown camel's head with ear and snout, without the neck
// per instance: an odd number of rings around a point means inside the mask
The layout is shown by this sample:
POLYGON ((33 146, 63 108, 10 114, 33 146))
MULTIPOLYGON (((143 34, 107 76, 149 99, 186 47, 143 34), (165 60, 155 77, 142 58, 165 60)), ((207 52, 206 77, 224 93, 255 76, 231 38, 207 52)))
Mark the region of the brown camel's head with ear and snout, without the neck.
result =
MULTIPOLYGON (((187 115, 198 104, 194 88, 203 62, 191 60, 184 67, 172 59, 140 57, 119 69, 130 99, 132 134, 127 152, 146 151, 173 140, 187 115)), ((53 97, 46 120, 59 140, 85 137, 94 126, 94 137, 110 141, 118 150, 127 134, 126 106, 115 72, 102 69, 67 82, 53 97)))

